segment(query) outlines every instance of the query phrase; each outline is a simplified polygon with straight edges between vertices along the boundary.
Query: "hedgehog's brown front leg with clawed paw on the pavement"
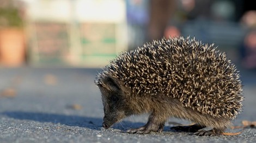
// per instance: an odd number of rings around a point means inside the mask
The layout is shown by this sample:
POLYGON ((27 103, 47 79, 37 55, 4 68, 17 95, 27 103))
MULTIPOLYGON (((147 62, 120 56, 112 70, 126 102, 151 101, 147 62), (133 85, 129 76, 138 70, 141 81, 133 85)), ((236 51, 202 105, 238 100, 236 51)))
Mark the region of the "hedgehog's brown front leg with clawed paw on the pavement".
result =
POLYGON ((137 133, 137 134, 148 134, 150 132, 161 132, 163 131, 164 124, 166 119, 161 120, 161 116, 157 116, 152 113, 149 116, 148 122, 146 125, 139 128, 131 128, 127 130, 127 133, 137 133))

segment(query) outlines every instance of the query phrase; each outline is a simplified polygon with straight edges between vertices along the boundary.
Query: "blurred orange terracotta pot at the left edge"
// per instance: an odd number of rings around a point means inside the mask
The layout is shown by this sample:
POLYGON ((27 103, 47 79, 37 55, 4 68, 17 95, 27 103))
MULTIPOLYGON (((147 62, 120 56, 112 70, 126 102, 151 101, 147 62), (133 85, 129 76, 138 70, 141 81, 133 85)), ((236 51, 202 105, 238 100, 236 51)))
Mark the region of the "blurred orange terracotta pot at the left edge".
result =
POLYGON ((0 29, 0 62, 3 66, 21 66, 25 61, 25 35, 22 29, 0 29))

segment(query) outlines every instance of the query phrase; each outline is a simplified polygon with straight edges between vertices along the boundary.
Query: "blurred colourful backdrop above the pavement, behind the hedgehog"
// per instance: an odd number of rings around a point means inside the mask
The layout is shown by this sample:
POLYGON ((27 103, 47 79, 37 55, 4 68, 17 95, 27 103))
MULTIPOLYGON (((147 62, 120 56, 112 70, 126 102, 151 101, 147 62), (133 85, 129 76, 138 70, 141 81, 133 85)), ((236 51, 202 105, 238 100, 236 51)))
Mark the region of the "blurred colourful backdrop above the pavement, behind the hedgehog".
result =
POLYGON ((0 65, 100 68, 120 51, 182 35, 255 69, 255 29, 253 1, 0 0, 0 65))

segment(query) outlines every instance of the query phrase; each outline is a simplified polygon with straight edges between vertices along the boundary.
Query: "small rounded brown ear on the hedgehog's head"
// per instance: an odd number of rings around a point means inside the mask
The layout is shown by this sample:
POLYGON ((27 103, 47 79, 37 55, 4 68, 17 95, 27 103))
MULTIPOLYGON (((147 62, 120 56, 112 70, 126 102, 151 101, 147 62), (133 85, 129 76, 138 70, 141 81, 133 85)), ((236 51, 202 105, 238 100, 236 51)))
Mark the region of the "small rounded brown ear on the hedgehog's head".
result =
POLYGON ((106 76, 105 79, 102 80, 102 87, 113 92, 120 90, 118 82, 110 76, 106 76))

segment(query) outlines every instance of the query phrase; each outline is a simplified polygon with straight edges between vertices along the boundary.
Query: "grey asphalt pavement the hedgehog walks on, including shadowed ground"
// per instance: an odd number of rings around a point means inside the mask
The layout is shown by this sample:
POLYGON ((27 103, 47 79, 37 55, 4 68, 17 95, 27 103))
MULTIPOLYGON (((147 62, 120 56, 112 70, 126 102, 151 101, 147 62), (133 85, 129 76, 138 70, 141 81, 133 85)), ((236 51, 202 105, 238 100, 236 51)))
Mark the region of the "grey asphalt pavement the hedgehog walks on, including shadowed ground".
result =
MULTIPOLYGON (((245 128, 234 136, 197 137, 170 131, 170 122, 162 133, 124 133, 145 124, 146 115, 131 116, 103 129, 101 95, 94 85, 98 70, 0 68, 0 142, 255 142, 256 128, 245 128)), ((242 69, 241 75, 245 106, 234 125, 256 121, 256 71, 242 69)), ((190 124, 173 118, 169 121, 190 124)))

